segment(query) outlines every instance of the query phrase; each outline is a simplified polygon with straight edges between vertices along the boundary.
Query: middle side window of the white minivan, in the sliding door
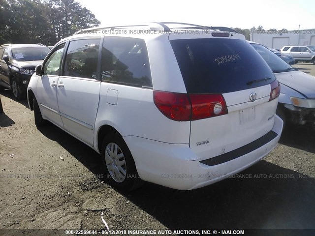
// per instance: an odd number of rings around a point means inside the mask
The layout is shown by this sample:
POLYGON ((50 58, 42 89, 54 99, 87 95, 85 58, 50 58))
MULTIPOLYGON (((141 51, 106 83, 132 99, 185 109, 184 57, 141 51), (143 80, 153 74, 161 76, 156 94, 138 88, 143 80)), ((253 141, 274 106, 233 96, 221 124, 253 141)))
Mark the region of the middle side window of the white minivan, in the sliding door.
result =
POLYGON ((100 39, 71 41, 65 56, 64 76, 96 79, 100 39))

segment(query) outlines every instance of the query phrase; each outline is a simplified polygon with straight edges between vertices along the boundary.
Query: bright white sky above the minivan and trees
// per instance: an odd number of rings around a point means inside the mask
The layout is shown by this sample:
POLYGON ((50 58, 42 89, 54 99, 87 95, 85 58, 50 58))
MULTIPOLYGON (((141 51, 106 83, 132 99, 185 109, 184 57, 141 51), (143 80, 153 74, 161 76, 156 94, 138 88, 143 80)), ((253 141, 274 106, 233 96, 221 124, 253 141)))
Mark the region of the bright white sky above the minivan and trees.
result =
POLYGON ((315 0, 77 0, 101 26, 184 22, 251 29, 315 29, 315 0))

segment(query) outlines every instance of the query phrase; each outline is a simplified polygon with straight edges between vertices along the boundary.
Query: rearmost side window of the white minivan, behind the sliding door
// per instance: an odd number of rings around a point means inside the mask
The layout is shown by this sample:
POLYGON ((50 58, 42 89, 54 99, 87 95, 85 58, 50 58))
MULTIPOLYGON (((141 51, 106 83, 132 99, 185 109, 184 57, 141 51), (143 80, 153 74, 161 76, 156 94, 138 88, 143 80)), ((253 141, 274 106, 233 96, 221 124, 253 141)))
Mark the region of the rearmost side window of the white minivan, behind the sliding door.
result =
POLYGON ((102 81, 135 87, 152 87, 144 40, 105 37, 102 47, 102 81))

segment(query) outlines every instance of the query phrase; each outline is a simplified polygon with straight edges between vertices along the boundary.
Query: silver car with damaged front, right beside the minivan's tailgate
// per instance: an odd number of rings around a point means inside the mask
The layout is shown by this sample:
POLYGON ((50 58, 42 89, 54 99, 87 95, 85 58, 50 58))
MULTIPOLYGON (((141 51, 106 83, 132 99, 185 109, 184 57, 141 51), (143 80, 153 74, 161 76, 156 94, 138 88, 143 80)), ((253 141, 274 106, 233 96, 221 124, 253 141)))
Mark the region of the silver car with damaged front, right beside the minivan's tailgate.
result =
POLYGON ((277 114, 285 122, 315 127, 315 77, 280 60, 264 46, 250 42, 281 84, 277 114))

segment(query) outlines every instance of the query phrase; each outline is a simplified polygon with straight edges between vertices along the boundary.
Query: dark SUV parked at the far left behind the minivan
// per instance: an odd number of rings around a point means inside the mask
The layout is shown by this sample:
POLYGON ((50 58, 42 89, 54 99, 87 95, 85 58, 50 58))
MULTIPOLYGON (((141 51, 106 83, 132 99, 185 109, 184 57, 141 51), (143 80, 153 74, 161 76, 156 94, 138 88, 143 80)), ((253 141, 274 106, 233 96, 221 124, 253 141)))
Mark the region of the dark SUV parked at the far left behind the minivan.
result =
POLYGON ((49 53, 42 44, 4 44, 0 46, 0 91, 11 89, 20 100, 28 88, 35 66, 49 53))

